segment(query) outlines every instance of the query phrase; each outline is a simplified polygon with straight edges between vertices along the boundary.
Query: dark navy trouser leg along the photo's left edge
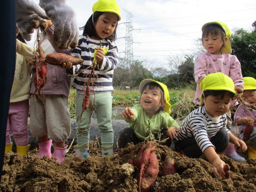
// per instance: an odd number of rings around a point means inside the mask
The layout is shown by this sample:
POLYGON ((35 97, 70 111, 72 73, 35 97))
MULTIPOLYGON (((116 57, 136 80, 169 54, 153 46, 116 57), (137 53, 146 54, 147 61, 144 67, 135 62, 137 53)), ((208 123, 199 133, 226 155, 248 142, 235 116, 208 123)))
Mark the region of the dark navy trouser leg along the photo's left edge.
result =
POLYGON ((4 163, 5 132, 16 59, 16 1, 0 1, 0 181, 4 163))

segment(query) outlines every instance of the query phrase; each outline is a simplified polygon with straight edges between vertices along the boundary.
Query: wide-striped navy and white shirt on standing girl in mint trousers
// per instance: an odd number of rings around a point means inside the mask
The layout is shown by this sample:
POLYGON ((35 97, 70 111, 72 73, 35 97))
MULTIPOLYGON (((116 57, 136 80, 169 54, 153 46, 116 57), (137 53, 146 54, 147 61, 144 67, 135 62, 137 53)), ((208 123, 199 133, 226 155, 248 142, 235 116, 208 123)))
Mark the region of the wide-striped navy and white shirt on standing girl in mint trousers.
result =
POLYGON ((94 40, 90 39, 89 36, 80 36, 78 46, 73 49, 71 55, 84 60, 82 65, 75 65, 74 71, 76 72, 73 87, 80 92, 83 90, 85 82, 89 80, 89 74, 92 72, 92 62, 95 55, 95 48, 101 46, 105 51, 105 56, 103 57, 102 64, 95 67, 95 74, 98 76, 93 76, 90 84, 90 90, 95 93, 101 92, 113 92, 113 74, 114 69, 118 61, 118 50, 114 42, 110 40, 94 40))

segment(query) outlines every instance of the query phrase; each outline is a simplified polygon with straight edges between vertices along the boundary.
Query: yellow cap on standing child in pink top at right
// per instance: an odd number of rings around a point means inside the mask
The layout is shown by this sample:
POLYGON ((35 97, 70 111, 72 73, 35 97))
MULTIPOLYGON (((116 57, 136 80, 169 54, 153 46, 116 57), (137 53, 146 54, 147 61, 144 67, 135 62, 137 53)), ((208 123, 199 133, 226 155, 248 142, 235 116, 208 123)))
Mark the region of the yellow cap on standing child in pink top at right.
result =
POLYGON ((231 32, 229 30, 229 27, 227 27, 227 25, 222 23, 221 21, 213 21, 213 22, 205 23, 202 26, 202 30, 205 27, 209 26, 210 24, 218 24, 221 27, 221 29, 223 29, 223 31, 226 34, 227 40, 226 40, 226 42, 224 42, 224 44, 223 44, 223 46, 221 48, 221 52, 227 53, 227 54, 231 53, 232 52, 232 48, 231 48, 231 43, 230 43, 230 40, 229 40, 229 38, 231 37, 231 32))

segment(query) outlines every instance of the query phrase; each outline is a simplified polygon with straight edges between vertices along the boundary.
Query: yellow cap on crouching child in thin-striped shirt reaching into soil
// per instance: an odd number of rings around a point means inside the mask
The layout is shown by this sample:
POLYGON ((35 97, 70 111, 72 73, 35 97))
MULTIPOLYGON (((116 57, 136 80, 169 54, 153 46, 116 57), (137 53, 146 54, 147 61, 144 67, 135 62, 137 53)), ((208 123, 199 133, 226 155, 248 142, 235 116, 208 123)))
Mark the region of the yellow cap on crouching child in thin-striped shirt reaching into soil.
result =
MULTIPOLYGON (((223 73, 211 73, 208 74, 200 83, 200 89, 202 92, 205 90, 226 90, 231 93, 235 92, 235 84, 229 76, 223 73)), ((200 97, 202 100, 202 95, 200 97)))

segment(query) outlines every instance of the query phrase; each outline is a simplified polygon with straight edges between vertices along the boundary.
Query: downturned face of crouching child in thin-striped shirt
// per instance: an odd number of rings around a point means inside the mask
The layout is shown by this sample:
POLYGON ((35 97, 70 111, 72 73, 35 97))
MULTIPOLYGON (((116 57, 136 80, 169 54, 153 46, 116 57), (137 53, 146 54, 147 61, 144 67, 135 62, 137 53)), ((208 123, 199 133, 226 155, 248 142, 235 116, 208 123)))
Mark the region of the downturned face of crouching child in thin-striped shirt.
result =
POLYGON ((204 105, 211 117, 218 118, 229 111, 231 100, 232 96, 228 92, 224 93, 223 98, 220 95, 209 95, 204 99, 204 105))

